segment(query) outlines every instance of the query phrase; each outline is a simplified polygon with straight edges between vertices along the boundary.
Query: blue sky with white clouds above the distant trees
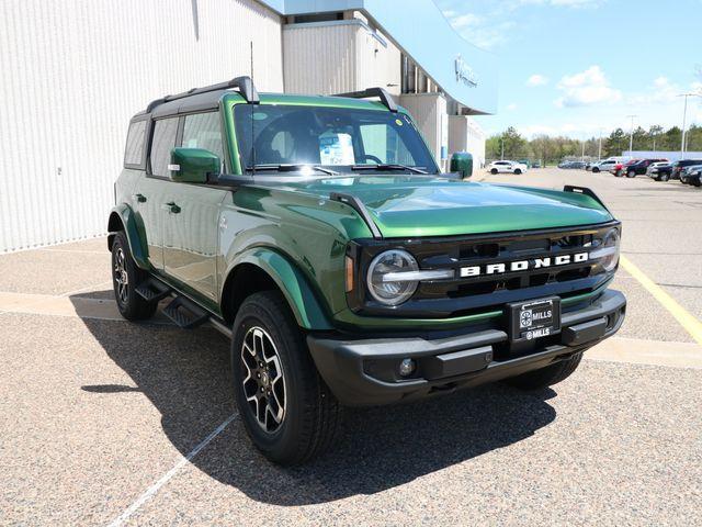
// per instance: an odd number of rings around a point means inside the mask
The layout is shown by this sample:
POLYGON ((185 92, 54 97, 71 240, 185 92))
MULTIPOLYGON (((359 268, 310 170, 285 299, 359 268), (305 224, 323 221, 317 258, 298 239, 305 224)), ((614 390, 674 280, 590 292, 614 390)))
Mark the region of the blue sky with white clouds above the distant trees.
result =
MULTIPOLYGON (((499 61, 499 106, 476 117, 571 137, 682 124, 702 93, 702 0, 435 0, 468 42, 499 61)), ((688 123, 702 124, 702 98, 688 123)))

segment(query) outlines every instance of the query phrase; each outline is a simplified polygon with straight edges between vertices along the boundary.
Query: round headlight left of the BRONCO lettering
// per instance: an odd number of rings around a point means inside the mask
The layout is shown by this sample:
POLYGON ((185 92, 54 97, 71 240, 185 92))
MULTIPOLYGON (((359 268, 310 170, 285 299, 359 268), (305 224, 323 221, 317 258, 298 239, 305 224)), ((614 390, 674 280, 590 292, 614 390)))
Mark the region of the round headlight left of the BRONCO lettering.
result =
POLYGON ((401 273, 419 269, 417 260, 406 250, 381 253, 369 267, 367 283, 371 295, 385 305, 398 305, 417 291, 417 280, 404 279, 401 273))

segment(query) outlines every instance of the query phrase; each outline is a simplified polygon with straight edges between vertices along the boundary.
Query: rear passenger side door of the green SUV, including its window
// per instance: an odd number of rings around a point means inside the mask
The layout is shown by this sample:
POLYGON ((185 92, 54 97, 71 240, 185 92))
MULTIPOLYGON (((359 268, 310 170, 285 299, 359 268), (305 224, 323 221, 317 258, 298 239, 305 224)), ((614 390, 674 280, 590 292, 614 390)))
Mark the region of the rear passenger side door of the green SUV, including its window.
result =
POLYGON ((148 259, 157 270, 163 270, 165 203, 169 187, 168 164, 170 152, 176 146, 178 117, 159 119, 154 122, 150 154, 146 177, 140 178, 134 190, 133 203, 137 218, 144 228, 148 259))

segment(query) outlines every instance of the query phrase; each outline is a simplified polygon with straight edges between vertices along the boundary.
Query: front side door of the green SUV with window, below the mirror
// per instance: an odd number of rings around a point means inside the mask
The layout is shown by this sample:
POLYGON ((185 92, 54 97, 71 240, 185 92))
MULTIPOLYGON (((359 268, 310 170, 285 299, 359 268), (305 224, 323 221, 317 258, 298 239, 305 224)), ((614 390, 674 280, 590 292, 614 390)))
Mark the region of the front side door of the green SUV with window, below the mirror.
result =
MULTIPOLYGON (((224 164, 219 113, 193 113, 181 120, 179 146, 207 149, 224 164)), ((211 184, 171 182, 166 201, 166 273, 210 301, 217 300, 219 205, 228 192, 211 184)))

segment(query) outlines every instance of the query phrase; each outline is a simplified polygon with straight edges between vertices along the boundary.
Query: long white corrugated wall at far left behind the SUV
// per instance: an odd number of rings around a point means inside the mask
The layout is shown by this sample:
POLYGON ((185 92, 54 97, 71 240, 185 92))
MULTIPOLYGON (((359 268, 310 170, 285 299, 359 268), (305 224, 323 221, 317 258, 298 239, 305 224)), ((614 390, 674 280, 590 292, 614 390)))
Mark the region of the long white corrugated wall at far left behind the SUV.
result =
POLYGON ((105 232, 129 117, 253 74, 283 90, 281 20, 253 0, 0 3, 0 253, 105 232))

